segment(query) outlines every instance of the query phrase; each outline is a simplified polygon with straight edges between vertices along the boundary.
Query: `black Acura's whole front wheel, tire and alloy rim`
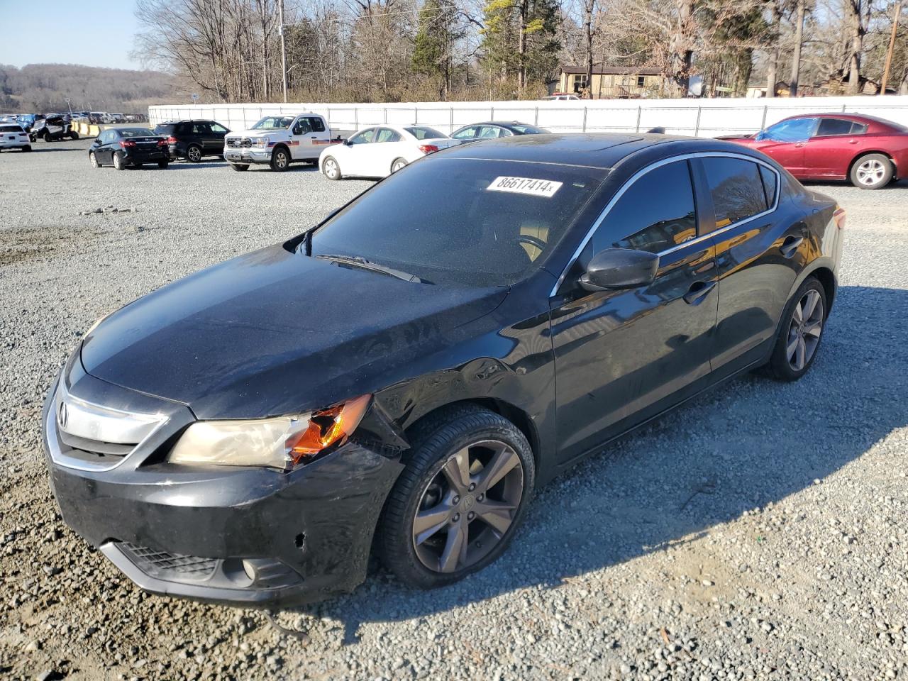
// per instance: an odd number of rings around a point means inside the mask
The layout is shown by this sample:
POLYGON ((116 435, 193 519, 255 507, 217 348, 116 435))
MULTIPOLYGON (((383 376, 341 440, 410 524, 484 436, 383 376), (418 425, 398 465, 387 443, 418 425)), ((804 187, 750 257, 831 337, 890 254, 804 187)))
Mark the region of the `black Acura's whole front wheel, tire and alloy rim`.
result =
POLYGON ((508 548, 532 498, 533 453, 512 422, 474 406, 429 416, 411 442, 382 510, 378 548, 404 584, 441 587, 508 548))

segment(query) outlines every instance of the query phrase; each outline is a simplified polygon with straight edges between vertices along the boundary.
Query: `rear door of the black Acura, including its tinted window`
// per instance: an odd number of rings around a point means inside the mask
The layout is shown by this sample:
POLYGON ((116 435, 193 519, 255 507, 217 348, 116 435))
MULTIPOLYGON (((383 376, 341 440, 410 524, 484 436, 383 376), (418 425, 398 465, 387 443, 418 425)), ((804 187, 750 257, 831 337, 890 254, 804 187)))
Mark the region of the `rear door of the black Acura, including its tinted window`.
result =
POLYGON ((779 202, 781 177, 747 156, 694 160, 701 204, 715 225, 719 309, 714 379, 761 359, 775 338, 797 271, 804 263, 806 225, 790 202, 779 202))

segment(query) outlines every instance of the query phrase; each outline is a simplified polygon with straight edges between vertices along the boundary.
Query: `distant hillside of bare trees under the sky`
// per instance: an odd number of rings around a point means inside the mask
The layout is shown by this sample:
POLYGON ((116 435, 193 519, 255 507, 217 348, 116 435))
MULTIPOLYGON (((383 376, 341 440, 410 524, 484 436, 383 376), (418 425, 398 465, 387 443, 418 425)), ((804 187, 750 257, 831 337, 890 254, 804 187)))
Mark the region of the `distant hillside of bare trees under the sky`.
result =
POLYGON ((74 110, 142 112, 149 104, 182 101, 170 74, 78 64, 0 65, 0 111, 74 110))

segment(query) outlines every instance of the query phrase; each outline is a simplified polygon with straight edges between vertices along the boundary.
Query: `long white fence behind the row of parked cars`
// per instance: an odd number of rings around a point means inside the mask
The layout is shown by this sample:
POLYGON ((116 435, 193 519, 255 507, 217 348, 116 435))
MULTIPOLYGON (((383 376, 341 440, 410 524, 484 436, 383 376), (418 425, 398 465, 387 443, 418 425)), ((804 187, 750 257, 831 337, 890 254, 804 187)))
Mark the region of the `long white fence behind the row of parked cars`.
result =
POLYGON ((262 116, 314 112, 334 131, 371 125, 429 125, 451 133, 481 121, 521 121, 552 132, 646 132, 715 137, 753 133, 794 114, 870 114, 908 125, 908 96, 810 97, 803 99, 660 99, 562 102, 419 102, 413 104, 186 104, 148 107, 152 124, 211 119, 231 130, 250 127, 262 116))

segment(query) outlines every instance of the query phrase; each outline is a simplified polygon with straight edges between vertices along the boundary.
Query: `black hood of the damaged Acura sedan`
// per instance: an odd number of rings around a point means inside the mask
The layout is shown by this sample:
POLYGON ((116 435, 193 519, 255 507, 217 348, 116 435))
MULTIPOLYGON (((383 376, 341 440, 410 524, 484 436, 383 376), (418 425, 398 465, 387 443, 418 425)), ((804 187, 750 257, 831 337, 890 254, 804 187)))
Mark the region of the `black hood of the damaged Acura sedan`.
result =
POLYGON ((200 419, 262 418, 387 387, 507 291, 410 283, 275 245, 114 312, 81 356, 94 377, 200 419))

